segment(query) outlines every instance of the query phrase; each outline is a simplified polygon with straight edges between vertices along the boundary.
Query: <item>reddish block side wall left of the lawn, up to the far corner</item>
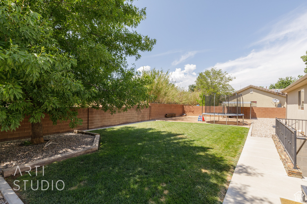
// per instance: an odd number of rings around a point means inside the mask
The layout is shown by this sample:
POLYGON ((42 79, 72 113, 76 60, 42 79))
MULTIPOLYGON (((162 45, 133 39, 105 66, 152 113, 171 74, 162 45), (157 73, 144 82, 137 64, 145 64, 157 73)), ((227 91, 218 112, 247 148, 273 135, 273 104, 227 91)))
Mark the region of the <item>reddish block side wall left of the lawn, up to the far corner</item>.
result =
MULTIPOLYGON (((83 119, 83 124, 74 129, 88 130, 118 124, 157 119, 165 117, 166 113, 176 113, 177 116, 181 116, 183 113, 183 105, 150 104, 148 108, 144 108, 142 110, 136 111, 136 108, 132 108, 127 112, 116 113, 113 115, 111 115, 110 112, 104 112, 102 110, 92 108, 79 109, 78 112, 78 116, 83 119)), ((1 132, 0 142, 30 138, 31 123, 29 123, 28 120, 29 117, 25 117, 25 119, 21 122, 21 126, 15 131, 1 132)), ((52 125, 52 121, 49 120, 48 115, 45 116, 42 123, 44 135, 73 131, 73 129, 69 127, 69 121, 64 121, 61 123, 58 122, 57 125, 52 125)))

